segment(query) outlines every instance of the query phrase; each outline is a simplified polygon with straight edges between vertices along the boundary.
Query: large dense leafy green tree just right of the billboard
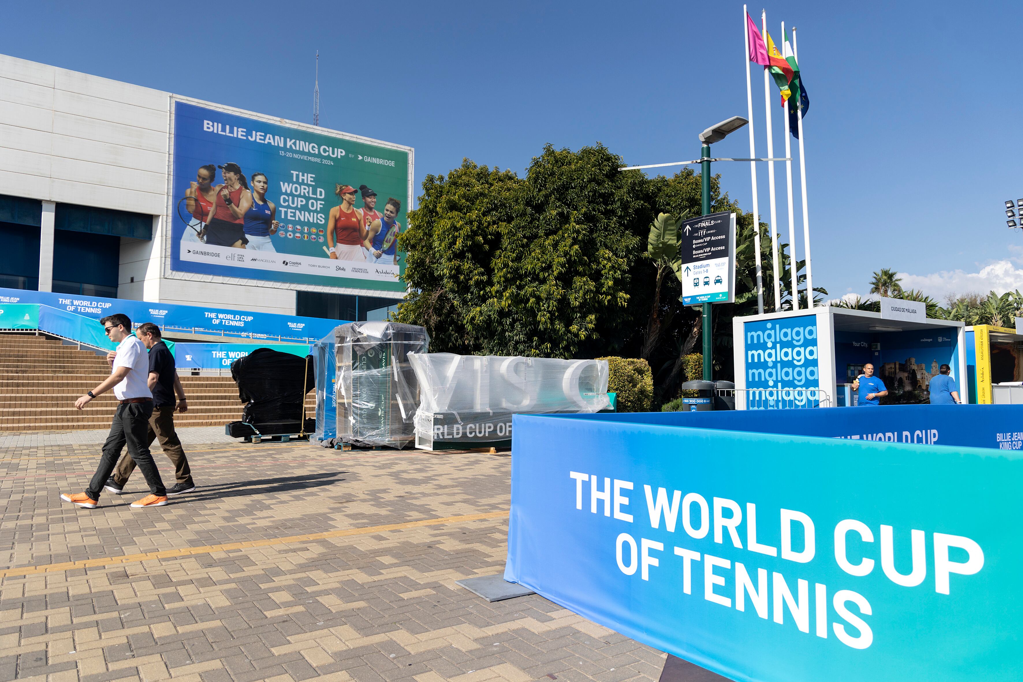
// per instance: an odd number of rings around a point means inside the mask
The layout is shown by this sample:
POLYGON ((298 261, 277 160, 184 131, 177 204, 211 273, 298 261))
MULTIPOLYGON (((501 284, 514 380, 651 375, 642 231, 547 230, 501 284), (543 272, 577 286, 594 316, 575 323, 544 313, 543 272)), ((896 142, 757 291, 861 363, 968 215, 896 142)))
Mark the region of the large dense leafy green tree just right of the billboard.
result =
POLYGON ((465 161, 428 176, 401 236, 413 289, 398 320, 454 353, 593 357, 616 352, 639 313, 646 179, 597 144, 549 144, 526 177, 465 161))

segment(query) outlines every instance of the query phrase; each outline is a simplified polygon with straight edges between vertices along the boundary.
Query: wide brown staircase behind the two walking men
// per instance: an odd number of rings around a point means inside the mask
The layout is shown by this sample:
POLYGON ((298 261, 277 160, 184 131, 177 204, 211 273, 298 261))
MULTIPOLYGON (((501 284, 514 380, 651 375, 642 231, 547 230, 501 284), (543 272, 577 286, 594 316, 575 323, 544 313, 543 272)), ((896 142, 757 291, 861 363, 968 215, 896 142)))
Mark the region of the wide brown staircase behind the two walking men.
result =
MULTIPOLYGON (((75 409, 75 401, 110 373, 93 351, 31 334, 0 334, 0 431, 107 428, 117 406, 114 392, 75 409)), ((181 374, 188 411, 176 413, 177 427, 217 426, 241 418, 243 404, 230 376, 181 374)), ((315 416, 315 391, 306 395, 315 416)))

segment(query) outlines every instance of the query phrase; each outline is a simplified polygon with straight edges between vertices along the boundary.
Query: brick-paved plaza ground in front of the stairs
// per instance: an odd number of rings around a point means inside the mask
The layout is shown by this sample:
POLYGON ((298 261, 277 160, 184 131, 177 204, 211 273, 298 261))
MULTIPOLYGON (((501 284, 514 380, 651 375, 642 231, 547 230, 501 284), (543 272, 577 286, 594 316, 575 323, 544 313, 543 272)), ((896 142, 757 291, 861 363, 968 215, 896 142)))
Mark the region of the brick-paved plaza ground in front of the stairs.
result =
POLYGON ((617 682, 664 666, 540 596, 455 585, 503 570, 506 453, 209 442, 187 449, 195 493, 132 509, 136 471, 86 510, 58 495, 84 490, 95 443, 5 438, 23 440, 0 446, 0 681, 617 682))

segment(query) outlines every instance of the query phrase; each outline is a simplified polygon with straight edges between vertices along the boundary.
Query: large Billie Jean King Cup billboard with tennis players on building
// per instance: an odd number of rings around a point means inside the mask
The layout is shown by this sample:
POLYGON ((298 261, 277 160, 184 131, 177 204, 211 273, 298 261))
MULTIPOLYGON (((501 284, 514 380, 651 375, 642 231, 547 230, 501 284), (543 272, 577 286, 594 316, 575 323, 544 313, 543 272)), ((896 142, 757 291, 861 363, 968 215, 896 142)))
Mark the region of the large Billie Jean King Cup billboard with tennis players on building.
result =
POLYGON ((410 154, 175 100, 171 270, 404 291, 410 154))

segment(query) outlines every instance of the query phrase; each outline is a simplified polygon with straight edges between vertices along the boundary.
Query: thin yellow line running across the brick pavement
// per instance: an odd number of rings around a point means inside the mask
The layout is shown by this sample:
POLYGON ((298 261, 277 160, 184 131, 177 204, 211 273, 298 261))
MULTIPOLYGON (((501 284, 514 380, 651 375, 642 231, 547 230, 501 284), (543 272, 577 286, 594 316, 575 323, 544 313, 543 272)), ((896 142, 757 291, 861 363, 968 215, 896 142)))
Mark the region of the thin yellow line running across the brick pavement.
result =
POLYGON ((206 547, 182 547, 180 549, 165 549, 159 552, 145 552, 143 554, 126 554, 124 556, 105 556, 95 559, 82 559, 80 561, 64 561, 62 563, 47 563, 38 566, 25 566, 20 569, 0 570, 0 578, 12 576, 31 576, 39 573, 56 573, 61 571, 73 571, 75 569, 90 569, 94 566, 108 566, 118 563, 133 563, 136 561, 148 561, 149 559, 166 559, 178 556, 190 556, 193 554, 212 554, 214 552, 224 552, 231 549, 250 549, 253 547, 269 547, 271 545, 286 545, 294 542, 309 542, 312 540, 327 540, 330 538, 350 538, 358 535, 372 535, 373 533, 386 533, 388 531, 404 531, 410 528, 421 528, 424 526, 440 526, 462 524, 465 521, 486 520, 491 518, 506 518, 507 510, 489 511, 480 514, 464 514, 461 516, 444 516, 442 518, 425 518, 417 521, 405 521, 403 524, 385 524, 383 526, 369 526, 366 528, 350 528, 343 531, 327 531, 325 533, 307 533, 306 535, 292 535, 284 538, 267 538, 265 540, 248 540, 246 542, 229 542, 223 545, 207 545, 206 547))

